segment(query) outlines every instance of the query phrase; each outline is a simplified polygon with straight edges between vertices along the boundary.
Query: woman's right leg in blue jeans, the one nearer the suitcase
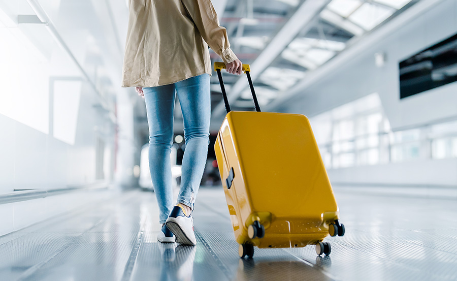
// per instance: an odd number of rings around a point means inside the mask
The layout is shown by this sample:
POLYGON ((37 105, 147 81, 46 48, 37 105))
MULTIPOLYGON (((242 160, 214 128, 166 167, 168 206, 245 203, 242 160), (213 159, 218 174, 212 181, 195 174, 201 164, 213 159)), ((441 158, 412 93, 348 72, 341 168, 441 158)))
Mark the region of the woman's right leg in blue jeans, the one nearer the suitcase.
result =
POLYGON ((181 104, 186 141, 178 203, 193 210, 208 157, 211 115, 209 74, 177 82, 175 87, 181 104))

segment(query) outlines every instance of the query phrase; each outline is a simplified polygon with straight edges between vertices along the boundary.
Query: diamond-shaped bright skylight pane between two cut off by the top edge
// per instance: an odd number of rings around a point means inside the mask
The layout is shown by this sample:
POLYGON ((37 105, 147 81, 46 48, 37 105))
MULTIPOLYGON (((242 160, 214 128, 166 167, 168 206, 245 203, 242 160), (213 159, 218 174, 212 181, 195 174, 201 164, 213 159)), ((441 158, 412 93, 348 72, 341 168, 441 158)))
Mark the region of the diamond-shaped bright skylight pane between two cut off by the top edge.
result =
POLYGON ((349 16, 349 20, 363 27, 365 30, 371 30, 373 27, 390 17, 394 12, 394 9, 364 3, 349 16))

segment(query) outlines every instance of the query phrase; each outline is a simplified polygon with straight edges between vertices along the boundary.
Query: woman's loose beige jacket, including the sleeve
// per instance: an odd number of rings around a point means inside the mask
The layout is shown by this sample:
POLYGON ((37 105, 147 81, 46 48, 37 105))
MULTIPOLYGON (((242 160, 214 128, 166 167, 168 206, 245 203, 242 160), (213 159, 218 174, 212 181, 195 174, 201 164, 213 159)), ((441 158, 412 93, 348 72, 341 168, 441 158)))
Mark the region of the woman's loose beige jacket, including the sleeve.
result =
POLYGON ((155 87, 211 75, 208 45, 237 59, 211 0, 129 0, 122 87, 155 87))

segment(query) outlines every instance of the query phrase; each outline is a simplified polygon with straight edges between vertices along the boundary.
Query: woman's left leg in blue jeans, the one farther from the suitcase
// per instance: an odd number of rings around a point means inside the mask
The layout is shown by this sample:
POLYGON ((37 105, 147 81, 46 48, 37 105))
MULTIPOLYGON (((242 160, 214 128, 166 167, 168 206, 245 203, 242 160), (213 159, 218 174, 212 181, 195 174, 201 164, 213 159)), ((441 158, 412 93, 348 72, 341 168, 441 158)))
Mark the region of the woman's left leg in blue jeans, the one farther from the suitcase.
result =
POLYGON ((165 224, 173 207, 170 152, 173 145, 175 86, 143 88, 149 124, 149 170, 159 206, 159 219, 165 224))

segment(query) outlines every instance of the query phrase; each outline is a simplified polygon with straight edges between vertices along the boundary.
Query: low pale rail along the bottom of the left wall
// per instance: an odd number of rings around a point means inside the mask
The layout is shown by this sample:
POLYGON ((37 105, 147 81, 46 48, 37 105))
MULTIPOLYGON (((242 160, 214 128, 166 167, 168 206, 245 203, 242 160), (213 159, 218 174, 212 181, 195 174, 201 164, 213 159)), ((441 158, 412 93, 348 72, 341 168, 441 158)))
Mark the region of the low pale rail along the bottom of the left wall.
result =
POLYGON ((64 194, 64 193, 71 193, 76 191, 83 191, 83 190, 99 190, 99 189, 108 189, 107 182, 99 182, 99 183, 92 183, 92 184, 84 184, 84 185, 69 185, 67 188, 60 188, 60 189, 49 189, 49 190, 15 190, 14 192, 0 194, 0 205, 1 204, 8 204, 14 202, 21 202, 27 201, 32 199, 38 198, 45 198, 49 196, 64 194))

